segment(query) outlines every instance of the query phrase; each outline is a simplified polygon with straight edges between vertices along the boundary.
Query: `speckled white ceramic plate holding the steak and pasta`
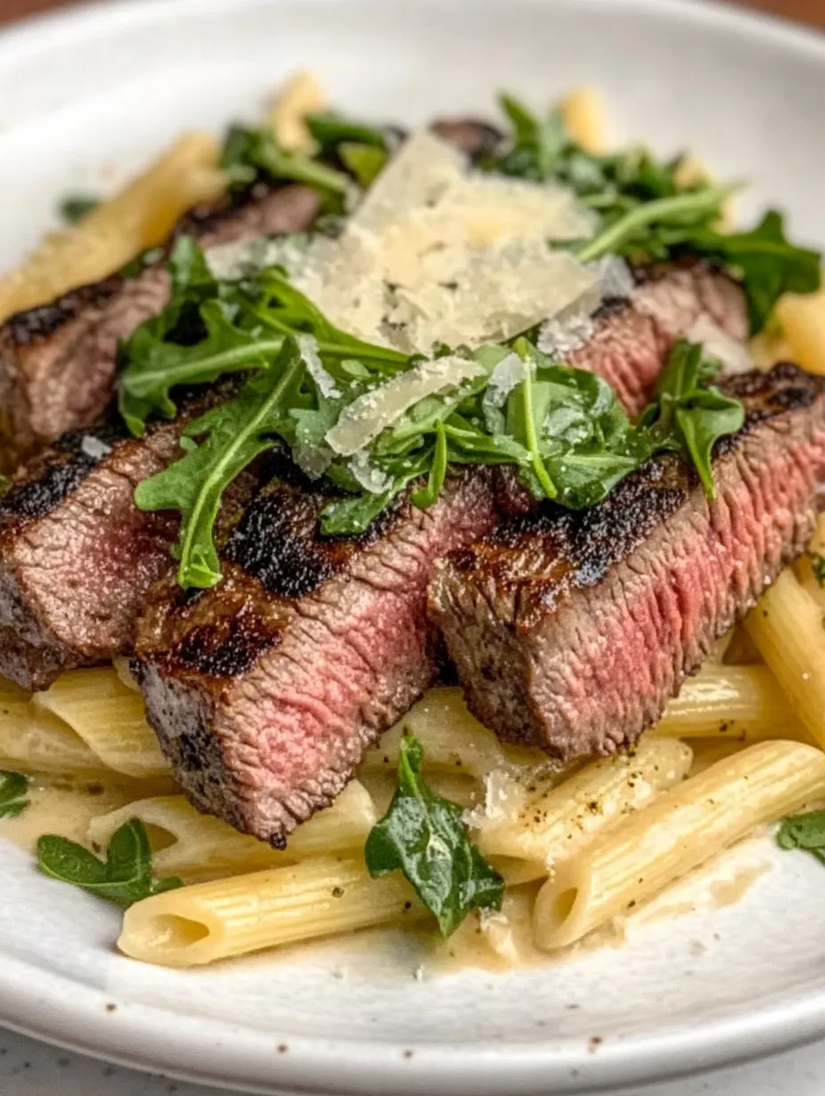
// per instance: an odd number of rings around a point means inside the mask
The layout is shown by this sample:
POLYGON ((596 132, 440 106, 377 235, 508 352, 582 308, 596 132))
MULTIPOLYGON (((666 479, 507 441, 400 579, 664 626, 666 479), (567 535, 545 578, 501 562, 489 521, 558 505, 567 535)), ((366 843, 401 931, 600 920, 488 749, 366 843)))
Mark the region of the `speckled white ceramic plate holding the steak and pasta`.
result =
MULTIPOLYGON (((56 198, 122 175, 192 125, 260 110, 299 66, 368 116, 542 102, 598 84, 623 134, 690 145, 825 242, 825 39, 672 0, 145 0, 0 38, 0 265, 56 198)), ((738 904, 623 946, 423 982, 370 943, 174 973, 112 947, 117 914, 0 845, 0 1021, 215 1084, 273 1093, 583 1092, 825 1034, 825 872, 767 842, 738 904)), ((722 875, 735 870, 725 860, 722 875)))

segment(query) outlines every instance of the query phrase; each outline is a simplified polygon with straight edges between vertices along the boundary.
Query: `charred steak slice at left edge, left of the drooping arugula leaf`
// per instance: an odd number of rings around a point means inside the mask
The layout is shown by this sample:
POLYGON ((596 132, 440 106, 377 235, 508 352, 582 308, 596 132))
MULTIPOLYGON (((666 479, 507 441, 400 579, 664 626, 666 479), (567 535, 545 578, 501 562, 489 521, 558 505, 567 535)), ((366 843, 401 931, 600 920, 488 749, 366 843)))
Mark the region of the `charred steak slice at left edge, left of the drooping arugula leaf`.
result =
MULTIPOLYGON (((0 676, 45 688, 64 670, 130 653, 177 532, 176 515, 137 509, 135 488, 180 454, 184 424, 225 392, 192 397, 145 437, 114 416, 66 434, 19 472, 0 499, 0 676)), ((265 473, 256 466, 236 481, 222 522, 265 473)))

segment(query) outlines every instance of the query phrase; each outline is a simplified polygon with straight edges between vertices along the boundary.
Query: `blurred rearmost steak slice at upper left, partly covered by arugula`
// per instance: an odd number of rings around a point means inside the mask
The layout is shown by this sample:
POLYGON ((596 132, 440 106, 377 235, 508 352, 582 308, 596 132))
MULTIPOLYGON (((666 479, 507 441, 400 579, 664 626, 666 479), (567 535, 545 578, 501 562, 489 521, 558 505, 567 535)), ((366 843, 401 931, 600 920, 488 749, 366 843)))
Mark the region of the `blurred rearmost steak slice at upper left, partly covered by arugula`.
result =
MULTIPOLYGON (((306 186, 255 195, 194 210, 175 235, 213 247, 300 231, 318 213, 318 196, 306 186)), ((159 312, 169 292, 159 261, 136 277, 117 274, 7 320, 0 328, 0 470, 95 422, 112 398, 118 341, 159 312)))

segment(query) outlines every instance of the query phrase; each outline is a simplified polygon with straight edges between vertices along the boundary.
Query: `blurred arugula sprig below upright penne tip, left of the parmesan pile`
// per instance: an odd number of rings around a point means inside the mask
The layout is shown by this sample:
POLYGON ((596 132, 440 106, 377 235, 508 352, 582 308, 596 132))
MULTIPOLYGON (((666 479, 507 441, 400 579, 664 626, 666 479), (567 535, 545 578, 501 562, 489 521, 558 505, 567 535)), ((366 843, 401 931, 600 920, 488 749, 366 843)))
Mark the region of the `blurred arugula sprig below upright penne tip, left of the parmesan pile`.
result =
POLYGON ((227 136, 221 168, 233 190, 245 190, 260 179, 306 183, 323 194, 343 196, 350 182, 346 175, 306 152, 280 148, 268 127, 250 129, 232 126, 227 136))

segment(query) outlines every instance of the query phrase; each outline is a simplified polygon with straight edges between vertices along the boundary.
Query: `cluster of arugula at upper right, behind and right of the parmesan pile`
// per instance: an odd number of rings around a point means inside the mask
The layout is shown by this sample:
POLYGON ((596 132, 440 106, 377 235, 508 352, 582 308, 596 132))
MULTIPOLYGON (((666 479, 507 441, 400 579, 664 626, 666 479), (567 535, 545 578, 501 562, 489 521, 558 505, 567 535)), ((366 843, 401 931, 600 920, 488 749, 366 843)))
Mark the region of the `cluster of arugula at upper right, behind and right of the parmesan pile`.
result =
POLYGON ((509 96, 503 96, 502 106, 512 134, 503 152, 484 167, 572 187, 598 217, 593 239, 576 249, 582 260, 706 256, 742 282, 754 334, 783 293, 818 289, 822 256, 789 242, 776 210, 750 231, 719 230, 724 203, 740 184, 686 182, 684 157, 658 161, 643 148, 597 156, 570 138, 559 111, 540 118, 509 96))

